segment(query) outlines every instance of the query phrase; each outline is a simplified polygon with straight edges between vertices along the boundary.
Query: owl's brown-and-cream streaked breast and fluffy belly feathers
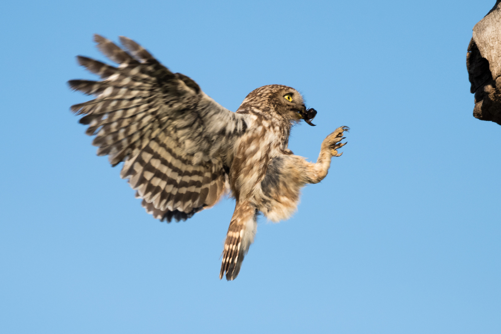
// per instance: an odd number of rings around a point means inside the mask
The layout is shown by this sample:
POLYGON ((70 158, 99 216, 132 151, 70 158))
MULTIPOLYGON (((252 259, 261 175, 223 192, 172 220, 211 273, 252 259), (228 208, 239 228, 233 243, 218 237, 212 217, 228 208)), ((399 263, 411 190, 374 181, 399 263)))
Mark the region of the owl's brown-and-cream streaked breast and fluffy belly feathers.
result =
POLYGON ((249 201, 272 221, 289 218, 299 201, 296 156, 287 148, 291 123, 270 113, 248 114, 247 131, 235 142, 229 185, 237 201, 249 201))

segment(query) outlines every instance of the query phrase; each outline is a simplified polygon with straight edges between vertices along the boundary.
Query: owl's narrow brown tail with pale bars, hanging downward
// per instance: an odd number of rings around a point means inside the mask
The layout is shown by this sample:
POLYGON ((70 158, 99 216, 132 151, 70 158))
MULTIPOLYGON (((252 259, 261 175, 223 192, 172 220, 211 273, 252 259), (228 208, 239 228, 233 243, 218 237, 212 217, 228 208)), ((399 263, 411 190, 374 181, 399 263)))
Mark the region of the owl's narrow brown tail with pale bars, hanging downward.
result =
POLYGON ((219 279, 226 273, 227 280, 233 280, 240 271, 243 257, 254 242, 257 229, 257 210, 249 202, 236 202, 235 211, 229 223, 222 252, 219 279))

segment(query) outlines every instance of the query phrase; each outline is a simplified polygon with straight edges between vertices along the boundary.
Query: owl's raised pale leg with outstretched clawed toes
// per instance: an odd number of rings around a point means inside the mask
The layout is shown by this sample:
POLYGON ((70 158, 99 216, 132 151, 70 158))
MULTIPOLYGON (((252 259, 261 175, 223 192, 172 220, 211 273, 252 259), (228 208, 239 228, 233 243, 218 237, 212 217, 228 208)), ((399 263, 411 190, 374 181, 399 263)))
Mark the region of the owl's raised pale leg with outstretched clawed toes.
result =
POLYGON ((346 145, 346 143, 341 143, 341 140, 345 138, 343 133, 349 129, 347 126, 342 126, 324 139, 317 162, 308 163, 306 168, 305 177, 307 183, 318 183, 326 177, 331 166, 331 158, 343 154, 343 152, 338 153, 338 149, 346 145))

